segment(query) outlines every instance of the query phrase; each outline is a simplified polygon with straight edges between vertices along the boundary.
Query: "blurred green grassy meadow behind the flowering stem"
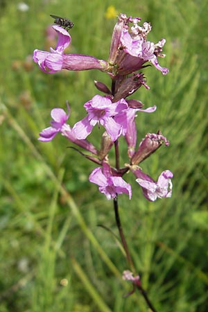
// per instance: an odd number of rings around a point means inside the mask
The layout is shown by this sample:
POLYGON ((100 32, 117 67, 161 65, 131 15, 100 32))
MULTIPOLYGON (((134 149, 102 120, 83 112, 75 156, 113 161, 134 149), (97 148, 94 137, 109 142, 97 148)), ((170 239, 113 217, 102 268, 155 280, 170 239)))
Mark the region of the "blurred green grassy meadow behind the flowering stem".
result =
MULTIPOLYGON (((53 107, 83 104, 110 85, 98 71, 46 74, 34 49, 49 50, 50 14, 69 17, 66 53, 107 59, 116 18, 107 8, 150 21, 148 40, 166 38, 160 59, 167 76, 144 69, 150 90, 134 95, 153 114, 139 114, 138 134, 161 130, 170 141, 142 168, 155 180, 174 173, 173 196, 148 202, 130 175, 132 200, 119 197, 121 222, 135 266, 158 312, 208 311, 207 80, 208 4, 205 0, 0 0, 0 312, 145 312, 143 297, 122 281, 127 263, 118 241, 112 201, 88 182, 94 164, 64 137, 37 141, 53 107), (98 227, 103 225, 112 232, 98 227)), ((55 42, 54 46, 55 47, 55 42)), ((91 136, 99 147, 98 136, 91 136)), ((121 147, 127 162, 125 144, 121 147)))

